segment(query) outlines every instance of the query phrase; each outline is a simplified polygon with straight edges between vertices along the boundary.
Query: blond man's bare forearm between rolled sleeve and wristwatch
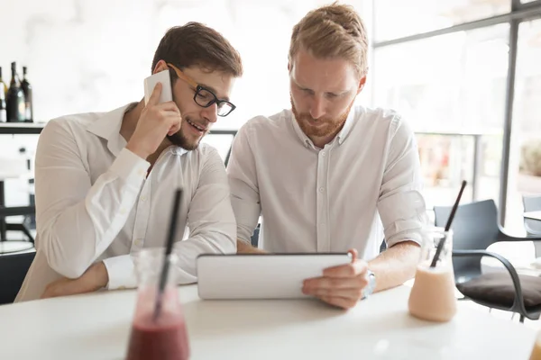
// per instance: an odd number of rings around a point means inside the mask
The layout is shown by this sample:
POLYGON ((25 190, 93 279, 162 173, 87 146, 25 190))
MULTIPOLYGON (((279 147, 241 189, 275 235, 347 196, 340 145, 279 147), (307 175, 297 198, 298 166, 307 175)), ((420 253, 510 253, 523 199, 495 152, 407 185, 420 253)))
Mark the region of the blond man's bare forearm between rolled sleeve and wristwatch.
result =
POLYGON ((368 263, 376 275, 374 292, 390 289, 408 281, 415 275, 421 248, 413 241, 401 242, 383 251, 368 263))

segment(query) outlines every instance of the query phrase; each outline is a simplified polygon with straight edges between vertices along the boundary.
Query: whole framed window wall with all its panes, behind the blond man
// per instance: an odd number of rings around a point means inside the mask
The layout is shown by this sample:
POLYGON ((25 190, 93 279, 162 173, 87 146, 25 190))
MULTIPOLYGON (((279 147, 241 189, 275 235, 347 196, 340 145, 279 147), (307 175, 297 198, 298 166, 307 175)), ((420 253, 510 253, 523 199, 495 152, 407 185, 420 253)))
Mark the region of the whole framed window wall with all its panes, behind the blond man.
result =
POLYGON ((465 178, 465 199, 493 199, 524 231, 522 195, 541 194, 541 0, 372 4, 372 105, 416 130, 427 206, 465 178))

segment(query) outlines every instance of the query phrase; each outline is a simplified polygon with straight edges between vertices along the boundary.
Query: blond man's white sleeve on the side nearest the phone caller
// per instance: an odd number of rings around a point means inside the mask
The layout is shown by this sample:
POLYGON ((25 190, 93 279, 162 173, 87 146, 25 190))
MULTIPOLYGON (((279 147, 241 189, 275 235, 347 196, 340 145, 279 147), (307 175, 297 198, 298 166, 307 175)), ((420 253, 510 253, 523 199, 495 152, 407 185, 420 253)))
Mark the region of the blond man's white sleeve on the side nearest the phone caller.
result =
POLYGON ((250 122, 234 138, 227 165, 231 204, 237 223, 237 238, 250 244, 253 230, 261 215, 261 201, 252 147, 250 122))

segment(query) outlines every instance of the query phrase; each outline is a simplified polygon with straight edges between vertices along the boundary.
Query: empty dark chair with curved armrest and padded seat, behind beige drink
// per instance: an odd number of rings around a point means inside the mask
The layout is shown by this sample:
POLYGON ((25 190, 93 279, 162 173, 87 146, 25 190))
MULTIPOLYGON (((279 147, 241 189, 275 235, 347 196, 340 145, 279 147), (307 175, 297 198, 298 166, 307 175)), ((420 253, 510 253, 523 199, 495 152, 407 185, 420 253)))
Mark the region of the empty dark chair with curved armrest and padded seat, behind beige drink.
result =
MULTIPOLYGON (((436 226, 444 227, 451 207, 435 206, 436 226)), ((492 200, 460 205, 453 225, 453 266, 456 287, 466 299, 491 309, 517 312, 538 320, 541 314, 541 278, 518 275, 505 257, 486 251, 499 241, 541 241, 541 238, 516 238, 506 234, 498 221, 492 200), (498 259, 509 272, 481 274, 481 257, 498 259)))

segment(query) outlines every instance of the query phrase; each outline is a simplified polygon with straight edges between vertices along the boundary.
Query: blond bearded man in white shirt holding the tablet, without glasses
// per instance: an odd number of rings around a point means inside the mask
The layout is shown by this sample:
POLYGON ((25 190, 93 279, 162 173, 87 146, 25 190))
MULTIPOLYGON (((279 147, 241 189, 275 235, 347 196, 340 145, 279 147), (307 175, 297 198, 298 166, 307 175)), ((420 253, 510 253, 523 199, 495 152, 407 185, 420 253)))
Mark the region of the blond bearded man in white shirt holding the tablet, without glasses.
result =
POLYGON ((289 47, 291 110, 248 121, 227 167, 239 253, 345 252, 303 292, 351 308, 415 274, 426 223, 417 146, 398 113, 353 105, 368 40, 351 6, 308 13, 289 47), (262 216, 259 248, 250 238, 262 216), (385 238, 388 249, 380 253, 385 238))

